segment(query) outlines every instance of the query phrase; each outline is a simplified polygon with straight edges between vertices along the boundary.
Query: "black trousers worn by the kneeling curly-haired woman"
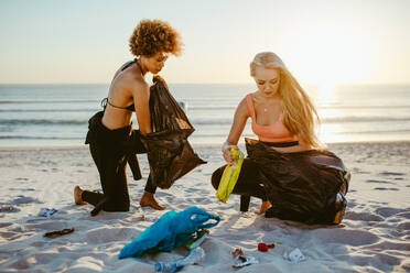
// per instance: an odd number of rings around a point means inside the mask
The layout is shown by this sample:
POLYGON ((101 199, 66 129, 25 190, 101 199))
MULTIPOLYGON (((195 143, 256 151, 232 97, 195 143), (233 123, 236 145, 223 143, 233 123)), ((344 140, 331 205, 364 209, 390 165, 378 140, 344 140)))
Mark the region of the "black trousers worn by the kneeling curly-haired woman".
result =
MULTIPOLYGON (((128 211, 130 206, 126 174, 128 148, 125 145, 132 130, 131 125, 109 130, 102 123, 96 123, 93 136, 87 143, 98 168, 104 194, 84 190, 82 198, 94 206, 102 204, 101 209, 106 211, 128 211)), ((133 140, 133 145, 136 151, 143 150, 142 143, 138 141, 133 140)), ((149 177, 144 190, 154 194, 155 189, 149 177)))

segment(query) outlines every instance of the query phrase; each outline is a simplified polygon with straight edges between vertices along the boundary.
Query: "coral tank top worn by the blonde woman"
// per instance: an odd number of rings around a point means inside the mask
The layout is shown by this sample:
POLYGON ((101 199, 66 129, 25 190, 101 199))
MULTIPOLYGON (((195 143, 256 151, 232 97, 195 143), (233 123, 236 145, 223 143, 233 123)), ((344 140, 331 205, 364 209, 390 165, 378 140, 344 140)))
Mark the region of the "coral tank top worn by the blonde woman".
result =
POLYGON ((258 135, 260 141, 290 142, 298 140, 298 138, 292 135, 291 132, 289 132, 289 130, 284 127, 282 122, 282 113, 279 116, 279 119, 273 125, 260 125, 256 122, 255 107, 250 94, 246 96, 246 102, 248 105, 249 114, 252 119, 252 131, 256 135, 258 135))

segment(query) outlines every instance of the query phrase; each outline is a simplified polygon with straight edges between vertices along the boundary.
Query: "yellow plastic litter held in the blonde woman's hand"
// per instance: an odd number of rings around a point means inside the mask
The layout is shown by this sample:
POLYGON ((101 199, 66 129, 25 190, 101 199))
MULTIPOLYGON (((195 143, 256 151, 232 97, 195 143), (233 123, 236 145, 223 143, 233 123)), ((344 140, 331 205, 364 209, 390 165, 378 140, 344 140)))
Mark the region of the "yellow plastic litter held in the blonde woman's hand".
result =
POLYGON ((218 189, 216 190, 216 198, 226 203, 234 190, 236 182, 238 181, 240 168, 242 167, 244 153, 240 150, 230 148, 234 163, 226 166, 219 182, 218 189))

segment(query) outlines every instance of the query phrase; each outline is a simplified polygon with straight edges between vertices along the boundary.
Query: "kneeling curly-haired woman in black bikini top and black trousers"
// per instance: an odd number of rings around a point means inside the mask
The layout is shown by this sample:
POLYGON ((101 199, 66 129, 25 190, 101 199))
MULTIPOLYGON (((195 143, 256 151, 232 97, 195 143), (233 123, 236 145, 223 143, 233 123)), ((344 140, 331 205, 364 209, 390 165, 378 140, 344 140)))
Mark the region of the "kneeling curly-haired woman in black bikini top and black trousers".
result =
MULTIPOLYGON (((150 88, 144 75, 158 74, 164 66, 169 54, 180 55, 182 42, 180 34, 160 20, 142 20, 129 40, 130 51, 136 59, 123 64, 115 74, 105 110, 89 121, 86 143, 97 165, 101 193, 74 188, 74 199, 78 205, 91 204, 106 211, 128 211, 130 206, 126 165, 127 141, 131 135, 151 132, 149 98, 150 88), (132 112, 136 112, 139 131, 132 130, 132 112)), ((142 143, 136 148, 143 152, 142 143)), ((157 187, 150 177, 147 181, 140 205, 163 209, 154 198, 157 187)))

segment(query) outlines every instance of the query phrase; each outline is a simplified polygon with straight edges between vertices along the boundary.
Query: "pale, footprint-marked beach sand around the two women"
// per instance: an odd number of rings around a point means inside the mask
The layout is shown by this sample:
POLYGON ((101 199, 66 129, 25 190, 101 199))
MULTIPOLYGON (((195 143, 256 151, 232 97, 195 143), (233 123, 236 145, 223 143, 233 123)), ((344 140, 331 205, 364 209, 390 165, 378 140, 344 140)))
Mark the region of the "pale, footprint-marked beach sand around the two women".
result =
MULTIPOLYGON (((251 199, 240 214, 239 197, 219 203, 211 185, 213 171, 223 165, 219 146, 195 146, 208 163, 177 181, 171 189, 158 189, 165 211, 139 208, 149 166, 139 156, 144 178, 131 179, 129 212, 100 212, 76 206, 73 188, 98 189, 99 178, 87 148, 2 149, 0 151, 0 272, 154 272, 157 261, 186 254, 147 254, 119 260, 125 244, 136 239, 169 210, 197 206, 220 216, 202 248, 201 265, 181 272, 410 272, 410 142, 333 144, 352 172, 348 207, 338 226, 305 226, 256 215, 260 200, 251 199), (48 218, 41 208, 58 211, 48 218), (75 228, 54 239, 48 231, 75 228), (277 247, 259 252, 259 242, 277 247), (281 242, 282 244, 278 244, 281 242), (259 264, 231 267, 230 252, 241 248, 259 264), (299 248, 306 261, 292 264, 285 252, 299 248)), ((129 170, 128 170, 129 171, 129 170)))

